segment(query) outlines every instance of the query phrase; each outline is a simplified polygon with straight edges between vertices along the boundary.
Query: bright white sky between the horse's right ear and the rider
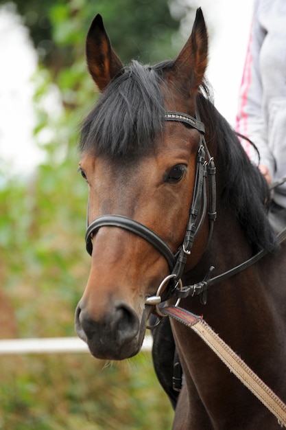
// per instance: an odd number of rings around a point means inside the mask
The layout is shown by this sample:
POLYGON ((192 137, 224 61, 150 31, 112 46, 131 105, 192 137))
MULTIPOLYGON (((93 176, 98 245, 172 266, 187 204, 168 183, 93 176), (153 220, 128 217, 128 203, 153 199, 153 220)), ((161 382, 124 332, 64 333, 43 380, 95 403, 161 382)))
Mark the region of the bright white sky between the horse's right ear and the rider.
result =
POLYGON ((189 0, 202 7, 211 26, 207 77, 215 92, 215 106, 235 124, 244 58, 252 21, 253 0, 189 0))

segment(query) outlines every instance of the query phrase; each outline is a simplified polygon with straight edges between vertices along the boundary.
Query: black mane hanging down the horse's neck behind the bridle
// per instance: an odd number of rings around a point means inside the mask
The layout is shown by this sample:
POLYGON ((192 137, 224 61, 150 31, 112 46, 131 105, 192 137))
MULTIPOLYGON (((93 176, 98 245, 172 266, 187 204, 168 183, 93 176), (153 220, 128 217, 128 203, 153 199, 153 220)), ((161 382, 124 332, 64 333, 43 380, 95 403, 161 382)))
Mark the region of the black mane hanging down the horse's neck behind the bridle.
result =
MULTIPOLYGON (((204 90, 207 93, 206 87, 204 90)), ((217 142, 219 160, 215 161, 219 168, 218 190, 222 200, 239 219, 254 251, 274 251, 278 245, 267 218, 270 190, 265 178, 248 159, 233 128, 202 94, 198 97, 198 109, 208 135, 217 142)))

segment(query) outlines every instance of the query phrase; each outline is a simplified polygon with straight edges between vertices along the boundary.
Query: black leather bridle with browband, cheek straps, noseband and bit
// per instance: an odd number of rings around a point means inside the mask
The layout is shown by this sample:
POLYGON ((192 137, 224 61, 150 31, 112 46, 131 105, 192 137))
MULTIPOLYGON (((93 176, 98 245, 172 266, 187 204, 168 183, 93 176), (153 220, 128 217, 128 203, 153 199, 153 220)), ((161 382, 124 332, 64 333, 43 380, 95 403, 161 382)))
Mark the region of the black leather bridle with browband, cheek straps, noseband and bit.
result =
POLYGON ((136 220, 126 216, 114 214, 99 216, 99 218, 93 220, 93 222, 88 225, 86 229, 86 251, 88 251, 90 255, 93 252, 93 236, 95 236, 100 227, 120 227, 147 240, 147 242, 149 242, 164 256, 165 260, 167 260, 167 263, 169 264, 171 275, 168 275, 167 278, 161 282, 156 295, 148 297, 145 302, 146 304, 156 305, 157 310, 157 305, 161 302, 160 293, 163 285, 165 286, 168 283, 172 284, 171 288, 169 288, 170 291, 167 293, 167 298, 172 297, 176 289, 182 287, 180 278, 184 271, 184 265, 186 264, 187 256, 189 256, 191 253, 193 241, 198 235, 198 232, 200 231, 200 228, 204 222, 204 218, 206 216, 207 200, 209 220, 208 242, 211 240, 213 224, 217 215, 215 212, 215 163, 213 161, 213 157, 211 157, 210 153, 208 152, 206 141, 204 139, 204 124, 200 121, 198 112, 196 113, 196 117, 198 119, 180 112, 166 112, 164 118, 165 121, 176 121, 187 124, 187 126, 195 128, 200 133, 200 144, 198 148, 195 170, 195 186, 193 192, 193 201, 191 203, 191 209, 189 212, 189 222, 187 224, 187 229, 182 245, 180 245, 176 254, 171 251, 169 245, 167 245, 167 243, 152 229, 145 227, 145 225, 142 225, 136 220), (208 199, 206 190, 207 181, 208 199), (167 282, 169 280, 172 282, 167 282))

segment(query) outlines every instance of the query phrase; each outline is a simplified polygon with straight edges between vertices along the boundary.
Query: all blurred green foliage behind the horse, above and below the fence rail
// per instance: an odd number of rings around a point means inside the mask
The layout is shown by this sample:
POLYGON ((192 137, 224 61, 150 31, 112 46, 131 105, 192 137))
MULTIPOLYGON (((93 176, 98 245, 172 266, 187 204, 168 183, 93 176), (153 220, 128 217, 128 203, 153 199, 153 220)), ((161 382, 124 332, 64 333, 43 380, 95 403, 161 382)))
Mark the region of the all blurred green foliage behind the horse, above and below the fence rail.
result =
MULTIPOLYGON (((152 63, 176 54, 171 39, 179 22, 165 0, 15 3, 40 55, 34 139, 46 159, 29 178, 0 172, 1 286, 14 308, 9 318, 17 336, 73 336, 90 264, 87 190, 76 173, 78 126, 96 100, 84 60, 86 31, 99 12, 124 63, 152 63), (51 91, 58 93, 52 110, 45 103, 51 91)), ((88 354, 1 357, 0 367, 0 430, 171 426, 173 412, 150 354, 107 368, 88 354)))

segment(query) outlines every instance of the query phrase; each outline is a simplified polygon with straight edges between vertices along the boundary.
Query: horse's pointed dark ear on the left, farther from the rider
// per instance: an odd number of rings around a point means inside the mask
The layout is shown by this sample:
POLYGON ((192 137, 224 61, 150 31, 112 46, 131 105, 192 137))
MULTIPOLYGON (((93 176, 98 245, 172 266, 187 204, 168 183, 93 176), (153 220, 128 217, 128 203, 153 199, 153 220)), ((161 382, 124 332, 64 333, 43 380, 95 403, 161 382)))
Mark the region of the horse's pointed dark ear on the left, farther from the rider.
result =
POLYGON ((102 16, 99 14, 93 19, 86 36, 86 62, 99 91, 104 91, 110 80, 123 67, 110 45, 102 16))

